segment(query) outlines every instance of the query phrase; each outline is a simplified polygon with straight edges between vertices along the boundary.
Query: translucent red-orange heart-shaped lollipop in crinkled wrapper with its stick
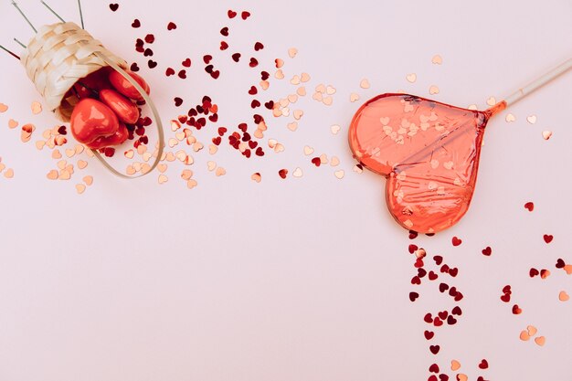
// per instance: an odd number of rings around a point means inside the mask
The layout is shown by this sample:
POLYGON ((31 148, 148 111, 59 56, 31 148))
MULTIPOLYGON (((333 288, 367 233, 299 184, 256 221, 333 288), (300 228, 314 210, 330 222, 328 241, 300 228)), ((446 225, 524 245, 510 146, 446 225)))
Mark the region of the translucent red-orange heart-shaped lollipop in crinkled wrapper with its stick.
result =
POLYGON ((570 68, 572 59, 486 111, 379 95, 355 113, 350 147, 360 164, 387 177, 387 207, 399 225, 440 232, 469 209, 489 119, 570 68))

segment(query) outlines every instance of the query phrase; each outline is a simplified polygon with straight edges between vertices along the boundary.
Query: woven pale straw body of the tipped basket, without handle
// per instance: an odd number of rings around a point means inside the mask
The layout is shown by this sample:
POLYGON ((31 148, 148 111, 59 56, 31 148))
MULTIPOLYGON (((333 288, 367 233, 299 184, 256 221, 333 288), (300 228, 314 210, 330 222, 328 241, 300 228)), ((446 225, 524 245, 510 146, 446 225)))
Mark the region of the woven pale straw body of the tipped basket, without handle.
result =
POLYGON ((94 53, 100 52, 122 69, 127 63, 104 48, 101 42, 75 23, 58 23, 39 28, 21 56, 29 79, 34 82, 49 110, 69 122, 77 104, 69 89, 79 80, 108 66, 94 53), (69 95, 69 94, 68 94, 69 95))

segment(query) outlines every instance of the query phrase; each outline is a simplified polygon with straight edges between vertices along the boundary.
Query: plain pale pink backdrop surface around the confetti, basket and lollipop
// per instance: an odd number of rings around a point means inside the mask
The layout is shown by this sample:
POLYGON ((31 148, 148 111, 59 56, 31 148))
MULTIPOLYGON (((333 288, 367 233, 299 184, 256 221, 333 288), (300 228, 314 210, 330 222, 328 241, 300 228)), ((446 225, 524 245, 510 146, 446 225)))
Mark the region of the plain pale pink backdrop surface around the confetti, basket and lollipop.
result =
MULTIPOLYGON (((37 25, 54 21, 38 2, 21 3, 37 25)), ((49 3, 78 18, 73 1, 49 3)), ((37 93, 16 60, 0 56, 0 101, 11 107, 0 115, 0 156, 16 172, 9 181, 0 176, 0 380, 406 381, 427 379, 433 361, 447 368, 452 358, 471 379, 572 379, 572 302, 557 300, 558 291, 572 294, 572 277, 554 269, 556 258, 572 261, 572 73, 515 105, 516 122, 504 122, 504 113, 490 124, 470 212, 450 231, 415 242, 461 269, 454 284, 464 313, 438 333, 438 356, 429 354, 422 316, 451 308, 450 299, 423 287, 418 302, 408 301, 407 234, 386 213, 382 179, 352 172, 344 134, 359 104, 348 101, 352 91, 362 101, 399 89, 428 96, 436 84, 439 101, 485 107, 488 97, 572 55, 572 3, 122 1, 115 14, 107 4, 85 1, 86 25, 128 59, 145 30, 129 26, 133 17, 158 40, 167 38, 168 21, 178 24, 168 38, 180 45, 154 47, 163 65, 187 55, 198 64, 216 50, 228 8, 249 9, 248 28, 231 29, 233 37, 245 47, 260 38, 267 47, 260 57, 299 48, 290 75, 307 71, 312 83, 333 84, 336 101, 303 103, 298 132, 276 123, 271 135, 286 151, 260 165, 221 149, 215 160, 228 175, 215 177, 207 153, 196 155, 192 191, 178 169, 159 186, 156 175, 126 182, 91 161, 86 174, 95 183, 78 196, 80 176, 49 182, 48 153, 5 127, 9 117, 39 131, 55 122, 47 112, 31 116, 37 93), (435 54, 443 65, 431 64, 435 54), (411 72, 414 84, 405 79, 411 72), (359 89, 363 78, 371 89, 359 89), (534 125, 525 121, 530 114, 534 125), (334 123, 344 128, 337 136, 334 123), (554 132, 548 142, 544 130, 554 132), (304 144, 338 155, 344 179, 312 168, 304 144), (282 181, 281 166, 301 166, 304 176, 282 181), (255 169, 266 174, 258 185, 249 180, 255 169), (523 208, 529 200, 532 214, 523 208), (555 236, 550 245, 545 233, 555 236), (452 248, 453 236, 461 247, 452 248), (532 266, 553 275, 530 280, 532 266), (522 315, 499 300, 508 283, 522 315), (546 336, 544 347, 518 339, 527 324, 546 336), (490 369, 479 372, 483 357, 490 369)), ((31 37, 8 2, 0 22, 4 45, 31 37)), ((221 68, 231 75, 234 67, 221 68)), ((175 115, 175 93, 206 92, 228 117, 232 110, 246 117, 234 103, 244 99, 242 79, 232 92, 228 80, 196 74, 167 82, 163 73, 143 69, 165 118, 175 115)))

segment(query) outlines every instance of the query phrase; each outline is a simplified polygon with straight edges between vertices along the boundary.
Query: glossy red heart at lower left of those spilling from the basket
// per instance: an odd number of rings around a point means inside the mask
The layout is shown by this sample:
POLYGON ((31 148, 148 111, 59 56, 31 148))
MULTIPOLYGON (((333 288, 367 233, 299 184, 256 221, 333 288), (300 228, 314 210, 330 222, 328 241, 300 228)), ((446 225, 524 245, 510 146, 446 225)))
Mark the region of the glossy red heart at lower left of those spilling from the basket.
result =
POLYGON ((79 143, 89 146, 98 138, 113 135, 118 129, 117 116, 101 101, 85 98, 71 113, 70 130, 79 143))

